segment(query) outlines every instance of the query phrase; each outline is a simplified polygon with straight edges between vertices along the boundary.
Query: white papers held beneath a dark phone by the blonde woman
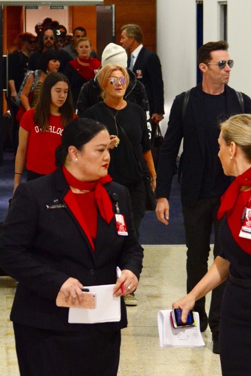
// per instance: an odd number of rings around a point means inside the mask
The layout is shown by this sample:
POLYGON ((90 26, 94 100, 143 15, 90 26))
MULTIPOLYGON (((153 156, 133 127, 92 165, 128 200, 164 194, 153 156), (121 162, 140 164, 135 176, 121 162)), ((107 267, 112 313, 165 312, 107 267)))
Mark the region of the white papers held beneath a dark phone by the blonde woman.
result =
POLYGON ((198 312, 193 312, 195 326, 174 328, 171 324, 171 309, 158 312, 160 347, 198 347, 204 346, 200 332, 198 312))

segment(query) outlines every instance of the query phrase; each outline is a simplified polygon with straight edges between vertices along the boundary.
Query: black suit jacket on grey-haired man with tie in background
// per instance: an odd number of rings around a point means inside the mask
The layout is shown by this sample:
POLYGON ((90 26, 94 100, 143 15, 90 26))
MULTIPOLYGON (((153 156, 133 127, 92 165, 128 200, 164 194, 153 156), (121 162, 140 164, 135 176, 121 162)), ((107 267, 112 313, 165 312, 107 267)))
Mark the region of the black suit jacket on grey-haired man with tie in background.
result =
MULTIPOLYGON (((128 58, 128 67, 130 67, 130 57, 128 58)), ((156 53, 142 47, 135 61, 133 72, 145 86, 150 114, 164 114, 164 84, 160 59, 156 53)))

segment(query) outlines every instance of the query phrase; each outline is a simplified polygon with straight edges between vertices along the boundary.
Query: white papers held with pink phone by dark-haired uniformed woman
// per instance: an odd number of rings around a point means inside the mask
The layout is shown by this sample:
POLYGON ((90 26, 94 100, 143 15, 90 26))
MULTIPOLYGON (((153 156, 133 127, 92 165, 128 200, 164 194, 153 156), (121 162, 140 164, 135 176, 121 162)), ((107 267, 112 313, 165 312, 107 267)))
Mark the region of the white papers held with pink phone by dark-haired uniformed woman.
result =
POLYGON ((113 297, 114 286, 85 286, 90 293, 96 293, 96 308, 69 308, 68 322, 71 324, 94 324, 119 321, 120 297, 113 297))

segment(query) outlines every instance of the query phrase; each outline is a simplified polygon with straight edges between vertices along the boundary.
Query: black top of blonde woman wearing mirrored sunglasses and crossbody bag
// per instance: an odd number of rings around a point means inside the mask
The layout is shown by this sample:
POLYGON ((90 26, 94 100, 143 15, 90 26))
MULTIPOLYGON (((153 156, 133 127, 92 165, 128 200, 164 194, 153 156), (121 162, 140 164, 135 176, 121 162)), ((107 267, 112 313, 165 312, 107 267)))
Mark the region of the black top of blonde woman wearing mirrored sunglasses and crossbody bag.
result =
POLYGON ((120 143, 117 148, 110 151, 110 165, 108 173, 117 183, 134 185, 142 177, 138 162, 128 145, 128 142, 116 127, 116 121, 126 132, 131 144, 134 147, 138 161, 140 161, 144 174, 148 173, 147 163, 143 153, 150 150, 151 144, 147 129, 146 114, 138 104, 127 102, 127 106, 121 110, 108 107, 104 102, 94 104, 88 108, 83 117, 89 117, 102 122, 108 129, 110 135, 117 135, 120 143))

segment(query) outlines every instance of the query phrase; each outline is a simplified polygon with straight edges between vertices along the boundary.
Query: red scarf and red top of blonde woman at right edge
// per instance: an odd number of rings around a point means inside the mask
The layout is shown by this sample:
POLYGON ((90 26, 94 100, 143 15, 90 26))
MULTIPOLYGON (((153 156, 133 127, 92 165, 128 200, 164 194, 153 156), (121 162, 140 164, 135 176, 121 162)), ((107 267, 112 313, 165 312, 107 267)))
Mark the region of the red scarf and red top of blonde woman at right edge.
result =
MULTIPOLYGON (((251 254, 251 241, 250 239, 242 238, 239 236, 242 222, 240 220, 244 205, 247 202, 242 202, 243 205, 238 205, 241 202, 240 189, 242 186, 251 185, 251 167, 243 174, 237 176, 235 180, 229 185, 223 196, 221 197, 221 204, 218 210, 217 219, 221 219, 226 213, 227 224, 230 228, 232 236, 236 243, 243 249, 244 252, 251 254), (237 205, 235 205, 237 203, 237 205), (241 206, 241 207, 236 207, 241 206)), ((247 198, 251 195, 251 190, 248 191, 247 198)))

